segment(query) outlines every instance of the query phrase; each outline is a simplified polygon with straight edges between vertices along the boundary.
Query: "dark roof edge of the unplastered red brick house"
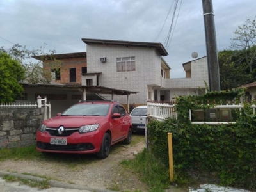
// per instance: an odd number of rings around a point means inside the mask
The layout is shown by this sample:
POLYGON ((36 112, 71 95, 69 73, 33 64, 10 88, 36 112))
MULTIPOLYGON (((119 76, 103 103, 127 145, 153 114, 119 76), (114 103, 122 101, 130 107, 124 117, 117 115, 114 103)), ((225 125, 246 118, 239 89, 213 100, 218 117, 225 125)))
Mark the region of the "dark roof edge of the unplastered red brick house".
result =
POLYGON ((40 61, 51 60, 52 58, 55 58, 56 60, 67 59, 67 58, 86 58, 86 52, 38 55, 38 56, 33 56, 32 58, 35 58, 36 60, 40 60, 40 61))

